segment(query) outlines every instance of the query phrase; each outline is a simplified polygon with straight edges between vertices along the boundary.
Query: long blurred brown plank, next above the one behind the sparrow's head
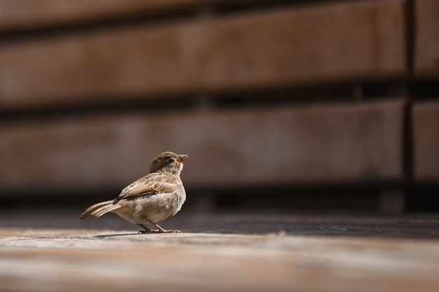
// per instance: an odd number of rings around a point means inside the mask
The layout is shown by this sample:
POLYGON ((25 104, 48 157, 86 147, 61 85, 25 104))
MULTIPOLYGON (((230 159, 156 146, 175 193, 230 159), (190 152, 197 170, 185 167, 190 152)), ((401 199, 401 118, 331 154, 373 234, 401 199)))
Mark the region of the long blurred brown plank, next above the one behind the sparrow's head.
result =
POLYGON ((404 3, 343 2, 4 44, 0 106, 404 76, 404 3))

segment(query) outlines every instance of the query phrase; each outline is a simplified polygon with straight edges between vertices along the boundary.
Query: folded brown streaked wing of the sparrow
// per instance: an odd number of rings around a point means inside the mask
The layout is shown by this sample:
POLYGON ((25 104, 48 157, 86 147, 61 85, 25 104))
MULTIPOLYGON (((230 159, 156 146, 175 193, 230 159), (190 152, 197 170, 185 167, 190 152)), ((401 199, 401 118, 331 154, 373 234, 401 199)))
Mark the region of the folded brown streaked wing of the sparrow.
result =
POLYGON ((173 193, 178 185, 170 177, 161 177, 156 174, 148 174, 124 188, 116 200, 139 195, 156 195, 159 193, 173 193))

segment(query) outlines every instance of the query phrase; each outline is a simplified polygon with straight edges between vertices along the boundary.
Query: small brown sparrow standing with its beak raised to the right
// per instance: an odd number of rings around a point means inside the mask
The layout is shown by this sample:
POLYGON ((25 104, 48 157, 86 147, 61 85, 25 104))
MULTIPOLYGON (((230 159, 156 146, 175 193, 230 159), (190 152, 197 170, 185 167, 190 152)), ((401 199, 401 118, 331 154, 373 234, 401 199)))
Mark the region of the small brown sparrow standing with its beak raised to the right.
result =
POLYGON ((165 230, 156 222, 174 216, 186 200, 186 191, 180 174, 183 162, 189 155, 177 155, 166 151, 159 154, 149 167, 149 174, 137 179, 114 200, 93 204, 81 214, 81 219, 113 212, 144 230, 140 233, 173 233, 180 230, 165 230), (154 225, 151 230, 145 224, 154 225))

